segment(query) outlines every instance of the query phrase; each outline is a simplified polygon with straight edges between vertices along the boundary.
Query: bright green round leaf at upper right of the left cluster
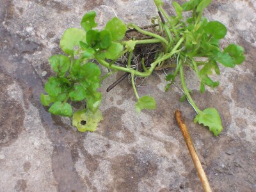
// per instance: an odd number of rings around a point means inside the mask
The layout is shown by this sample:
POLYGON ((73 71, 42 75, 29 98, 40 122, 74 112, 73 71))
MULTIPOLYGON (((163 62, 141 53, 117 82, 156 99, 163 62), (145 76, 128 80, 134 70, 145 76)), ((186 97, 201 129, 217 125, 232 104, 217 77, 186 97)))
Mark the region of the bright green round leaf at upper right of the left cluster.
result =
POLYGON ((122 40, 126 32, 126 26, 124 22, 117 17, 109 20, 105 29, 109 31, 113 41, 122 40))

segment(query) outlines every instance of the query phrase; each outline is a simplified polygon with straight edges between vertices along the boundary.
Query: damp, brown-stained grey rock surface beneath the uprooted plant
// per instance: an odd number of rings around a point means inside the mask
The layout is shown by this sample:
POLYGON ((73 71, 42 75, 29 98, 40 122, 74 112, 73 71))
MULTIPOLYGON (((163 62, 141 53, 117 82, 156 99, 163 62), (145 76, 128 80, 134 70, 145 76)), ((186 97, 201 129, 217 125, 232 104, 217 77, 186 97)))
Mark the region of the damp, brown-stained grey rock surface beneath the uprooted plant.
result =
MULTIPOLYGON (((164 8, 175 12, 171 1, 164 1, 164 8)), ((97 12, 99 28, 116 16, 147 26, 157 15, 151 0, 0 0, 0 191, 203 191, 174 118, 177 108, 212 191, 255 191, 255 1, 212 1, 204 13, 227 26, 221 47, 232 42, 244 47, 244 63, 221 67, 220 86, 204 94, 198 91, 200 82, 193 84, 195 74, 185 71, 198 107, 220 111, 218 137, 193 123, 195 111, 179 102, 179 88, 164 92, 163 70, 138 79, 139 95, 156 99, 154 111, 136 113, 128 78, 106 92, 124 75, 118 72, 99 89, 104 120, 97 131, 78 132, 70 118, 48 113, 40 103, 44 83, 53 75, 48 58, 61 53, 65 29, 79 27, 90 10, 97 12)))

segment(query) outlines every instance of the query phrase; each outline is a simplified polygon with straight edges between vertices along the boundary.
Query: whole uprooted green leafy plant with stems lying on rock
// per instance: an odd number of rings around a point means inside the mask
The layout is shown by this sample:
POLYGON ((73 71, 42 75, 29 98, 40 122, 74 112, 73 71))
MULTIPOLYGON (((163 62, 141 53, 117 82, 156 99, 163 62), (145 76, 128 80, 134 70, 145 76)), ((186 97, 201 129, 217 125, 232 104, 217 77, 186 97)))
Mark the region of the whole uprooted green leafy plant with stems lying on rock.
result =
POLYGON ((230 44, 221 50, 219 42, 227 33, 226 27, 221 22, 208 21, 202 17, 211 0, 191 0, 182 5, 173 2, 176 15, 168 15, 161 0, 154 2, 159 17, 154 17, 152 26, 147 28, 139 28, 132 23, 125 25, 122 20, 114 17, 104 29, 95 29, 96 13, 91 11, 81 20, 82 29, 70 28, 65 31, 60 47, 67 55, 58 54, 49 58, 56 77, 49 78, 45 83, 47 95, 41 95, 42 104, 50 106, 50 113, 73 115, 72 124, 79 131, 95 131, 102 120, 99 110, 102 95, 97 89, 106 77, 117 71, 131 75, 132 87, 138 99, 136 111, 140 112, 143 109, 155 109, 156 102, 148 95, 138 95, 134 77, 148 77, 154 70, 175 68, 173 73, 166 76, 166 91, 179 75, 184 92, 180 100, 188 99, 193 106, 197 113, 195 122, 209 127, 215 136, 220 134, 223 127, 218 111, 214 108, 200 110, 196 106, 186 86, 184 68, 189 67, 195 71, 201 82, 200 92, 203 93, 205 86, 215 88, 220 84, 209 77, 212 72, 220 75, 219 63, 225 67, 243 63, 244 49, 230 44), (190 12, 190 17, 184 18, 184 12, 190 12), (125 37, 128 33, 140 33, 143 37, 125 37), (138 53, 138 47, 154 49, 154 53, 148 54, 146 58, 145 54, 138 53), (134 54, 140 55, 140 66, 137 63, 136 68, 133 66, 134 54), (118 63, 124 58, 127 59, 125 64, 118 63), (99 65, 108 68, 108 74, 100 76, 99 65), (86 108, 72 111, 70 103, 81 100, 85 100, 86 108))

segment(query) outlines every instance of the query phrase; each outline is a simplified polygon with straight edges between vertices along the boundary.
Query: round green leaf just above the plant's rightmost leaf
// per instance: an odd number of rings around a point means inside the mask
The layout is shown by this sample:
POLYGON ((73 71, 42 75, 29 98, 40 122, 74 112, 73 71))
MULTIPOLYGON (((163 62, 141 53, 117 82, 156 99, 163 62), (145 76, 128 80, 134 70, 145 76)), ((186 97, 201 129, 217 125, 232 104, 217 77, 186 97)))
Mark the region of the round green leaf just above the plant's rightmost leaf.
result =
POLYGON ((214 36, 217 39, 224 38, 227 34, 227 28, 217 20, 210 21, 204 28, 205 32, 214 36))

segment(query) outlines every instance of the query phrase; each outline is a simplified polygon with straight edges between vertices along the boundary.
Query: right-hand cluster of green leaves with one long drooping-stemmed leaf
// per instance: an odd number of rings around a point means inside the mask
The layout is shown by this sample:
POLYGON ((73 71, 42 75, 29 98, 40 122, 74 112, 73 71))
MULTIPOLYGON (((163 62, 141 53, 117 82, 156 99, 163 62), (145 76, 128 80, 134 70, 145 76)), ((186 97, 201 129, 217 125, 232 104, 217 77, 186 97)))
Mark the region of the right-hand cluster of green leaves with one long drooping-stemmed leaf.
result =
MULTIPOLYGON (((221 51, 219 43, 227 35, 227 28, 217 20, 208 21, 202 17, 204 9, 210 3, 211 0, 191 0, 180 6, 178 3, 173 2, 173 6, 177 12, 177 17, 173 19, 174 22, 182 22, 182 11, 191 12, 191 17, 186 19, 186 22, 182 24, 181 30, 177 29, 179 34, 182 33, 184 37, 184 51, 180 52, 180 60, 182 65, 188 65, 195 70, 198 79, 201 81, 200 92, 202 93, 205 92, 205 86, 210 86, 211 88, 219 86, 220 82, 213 81, 209 77, 209 75, 212 75, 212 71, 218 76, 220 75, 218 63, 221 63, 225 67, 235 67, 243 63, 245 59, 244 49, 239 45, 230 44, 221 51), (195 58, 204 58, 204 60, 207 60, 196 61, 195 58), (198 67, 200 65, 202 65, 202 68, 199 70, 198 67)), ((171 81, 166 86, 166 90, 173 83, 176 75, 177 73, 169 74, 166 77, 167 81, 171 81)), ((180 76, 182 75, 180 74, 180 76)), ((181 79, 184 78, 181 77, 181 79)), ((195 106, 191 97, 188 97, 189 92, 186 92, 186 84, 183 83, 182 86, 186 97, 198 113, 195 117, 195 122, 209 127, 215 136, 220 134, 223 127, 218 111, 214 108, 207 108, 204 111, 200 111, 195 106)))

